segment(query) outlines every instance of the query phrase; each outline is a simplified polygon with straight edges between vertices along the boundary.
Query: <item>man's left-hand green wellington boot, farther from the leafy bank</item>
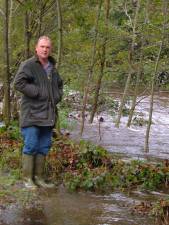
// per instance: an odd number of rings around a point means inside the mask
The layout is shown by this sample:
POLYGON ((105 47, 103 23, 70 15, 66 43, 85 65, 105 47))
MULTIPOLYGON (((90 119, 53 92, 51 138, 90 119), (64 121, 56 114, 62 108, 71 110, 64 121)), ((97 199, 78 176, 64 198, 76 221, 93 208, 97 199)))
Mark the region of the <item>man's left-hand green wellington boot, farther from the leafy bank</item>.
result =
POLYGON ((33 182, 34 156, 23 154, 22 164, 25 187, 36 190, 37 186, 33 182))

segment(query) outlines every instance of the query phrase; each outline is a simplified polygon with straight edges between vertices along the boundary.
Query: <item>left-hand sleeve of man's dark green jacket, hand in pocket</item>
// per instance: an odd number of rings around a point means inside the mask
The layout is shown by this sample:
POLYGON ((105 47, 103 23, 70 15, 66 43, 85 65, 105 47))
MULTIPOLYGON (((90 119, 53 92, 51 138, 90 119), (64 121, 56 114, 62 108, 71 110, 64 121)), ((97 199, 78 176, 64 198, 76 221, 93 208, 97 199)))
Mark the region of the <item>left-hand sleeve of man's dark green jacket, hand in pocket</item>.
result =
POLYGON ((34 84, 34 79, 30 69, 21 63, 14 79, 14 88, 27 97, 35 98, 39 94, 38 87, 34 84))

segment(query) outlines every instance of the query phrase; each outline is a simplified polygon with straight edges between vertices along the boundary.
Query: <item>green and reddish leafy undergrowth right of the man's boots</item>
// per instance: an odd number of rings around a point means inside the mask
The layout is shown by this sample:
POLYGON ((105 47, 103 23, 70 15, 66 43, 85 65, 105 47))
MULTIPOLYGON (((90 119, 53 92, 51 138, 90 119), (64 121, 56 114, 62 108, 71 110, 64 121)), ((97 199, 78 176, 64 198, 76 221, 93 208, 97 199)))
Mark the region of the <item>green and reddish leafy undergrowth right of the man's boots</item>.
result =
POLYGON ((59 173, 62 171, 63 182, 70 191, 156 190, 169 180, 168 166, 138 160, 126 163, 90 142, 74 144, 59 140, 56 146, 48 159, 50 171, 56 173, 53 168, 59 165, 59 173))

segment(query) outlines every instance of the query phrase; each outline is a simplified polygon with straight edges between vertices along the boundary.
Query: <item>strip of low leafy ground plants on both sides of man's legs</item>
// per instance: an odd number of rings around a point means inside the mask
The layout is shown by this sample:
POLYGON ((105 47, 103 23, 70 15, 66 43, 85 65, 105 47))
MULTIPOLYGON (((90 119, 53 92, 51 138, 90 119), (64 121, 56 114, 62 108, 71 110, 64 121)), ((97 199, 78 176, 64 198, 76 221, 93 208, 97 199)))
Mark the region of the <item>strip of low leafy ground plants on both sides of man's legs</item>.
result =
MULTIPOLYGON (((22 142, 11 139, 10 132, 5 130, 1 134, 0 168, 17 180, 21 176, 22 142)), ((74 143, 66 138, 54 140, 46 172, 51 179, 59 176, 71 191, 156 190, 166 187, 169 181, 168 165, 138 160, 126 163, 101 146, 83 140, 74 143)))

